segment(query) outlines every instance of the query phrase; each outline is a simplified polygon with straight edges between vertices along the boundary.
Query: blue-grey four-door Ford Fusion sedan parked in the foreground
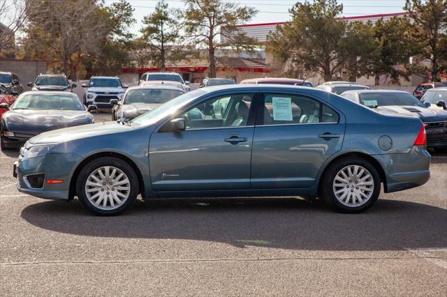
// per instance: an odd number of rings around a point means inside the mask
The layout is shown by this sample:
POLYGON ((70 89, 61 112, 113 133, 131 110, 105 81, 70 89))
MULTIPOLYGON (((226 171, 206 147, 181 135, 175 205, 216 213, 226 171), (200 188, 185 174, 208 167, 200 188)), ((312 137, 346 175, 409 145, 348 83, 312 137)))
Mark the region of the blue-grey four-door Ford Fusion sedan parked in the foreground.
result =
MULTIPOLYGON (((71 200, 96 215, 137 196, 320 197, 344 213, 423 185, 430 154, 420 119, 381 114, 301 86, 210 86, 132 121, 29 139, 14 165, 20 192, 71 200)), ((67 206, 68 207, 68 206, 67 206)))

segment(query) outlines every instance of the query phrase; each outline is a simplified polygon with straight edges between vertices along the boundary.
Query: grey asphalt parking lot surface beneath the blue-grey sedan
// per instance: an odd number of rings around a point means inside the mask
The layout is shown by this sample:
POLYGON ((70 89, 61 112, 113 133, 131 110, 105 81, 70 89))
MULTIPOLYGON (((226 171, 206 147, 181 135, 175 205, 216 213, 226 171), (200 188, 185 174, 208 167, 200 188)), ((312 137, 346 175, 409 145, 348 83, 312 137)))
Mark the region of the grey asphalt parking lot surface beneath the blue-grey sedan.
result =
POLYGON ((447 153, 359 215, 284 197, 138 200, 112 218, 17 192, 17 155, 0 153, 2 296, 446 296, 447 153))

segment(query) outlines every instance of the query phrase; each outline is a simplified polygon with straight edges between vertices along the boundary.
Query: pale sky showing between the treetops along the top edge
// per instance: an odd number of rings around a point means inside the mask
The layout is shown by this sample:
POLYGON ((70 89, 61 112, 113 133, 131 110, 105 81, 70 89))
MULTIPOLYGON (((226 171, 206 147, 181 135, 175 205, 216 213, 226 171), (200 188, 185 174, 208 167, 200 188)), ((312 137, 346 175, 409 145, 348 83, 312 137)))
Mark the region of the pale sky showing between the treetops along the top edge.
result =
MULTIPOLYGON (((133 13, 137 23, 131 28, 132 33, 138 33, 142 18, 154 11, 157 0, 128 0, 135 8, 133 13)), ((173 8, 184 8, 181 0, 165 0, 173 8)), ((288 9, 297 1, 290 0, 228 0, 240 5, 254 6, 259 10, 250 24, 284 22, 290 20, 288 9)), ((311 0, 312 1, 312 0, 311 0)), ((105 0, 109 5, 114 0, 105 0)), ((303 2, 303 1, 300 1, 303 2)), ((344 6, 344 16, 374 15, 379 13, 399 13, 403 11, 405 0, 339 0, 344 6)))

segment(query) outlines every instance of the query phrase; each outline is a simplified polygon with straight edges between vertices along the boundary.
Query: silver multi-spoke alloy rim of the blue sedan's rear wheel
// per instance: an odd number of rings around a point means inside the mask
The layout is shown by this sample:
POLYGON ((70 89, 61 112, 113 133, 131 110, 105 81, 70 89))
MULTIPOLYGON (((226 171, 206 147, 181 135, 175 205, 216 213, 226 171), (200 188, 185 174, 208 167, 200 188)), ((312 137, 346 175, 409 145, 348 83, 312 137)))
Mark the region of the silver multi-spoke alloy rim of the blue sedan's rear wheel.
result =
POLYGON ((345 206, 362 206, 372 197, 374 179, 365 167, 349 165, 337 172, 332 189, 338 201, 345 206))

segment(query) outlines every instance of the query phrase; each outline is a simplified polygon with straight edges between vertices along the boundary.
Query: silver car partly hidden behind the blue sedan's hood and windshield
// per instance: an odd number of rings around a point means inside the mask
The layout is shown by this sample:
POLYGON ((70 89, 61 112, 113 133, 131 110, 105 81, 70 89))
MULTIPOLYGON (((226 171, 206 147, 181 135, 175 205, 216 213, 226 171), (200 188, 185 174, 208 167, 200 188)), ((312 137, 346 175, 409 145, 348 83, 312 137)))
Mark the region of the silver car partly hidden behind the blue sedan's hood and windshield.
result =
POLYGON ((184 89, 170 84, 133 86, 126 91, 122 100, 110 100, 110 104, 114 105, 112 121, 131 120, 184 93, 184 89))

